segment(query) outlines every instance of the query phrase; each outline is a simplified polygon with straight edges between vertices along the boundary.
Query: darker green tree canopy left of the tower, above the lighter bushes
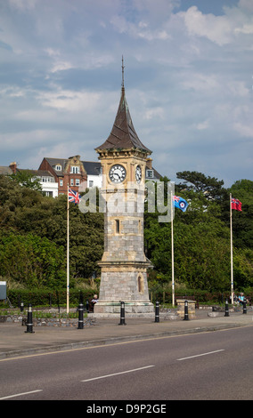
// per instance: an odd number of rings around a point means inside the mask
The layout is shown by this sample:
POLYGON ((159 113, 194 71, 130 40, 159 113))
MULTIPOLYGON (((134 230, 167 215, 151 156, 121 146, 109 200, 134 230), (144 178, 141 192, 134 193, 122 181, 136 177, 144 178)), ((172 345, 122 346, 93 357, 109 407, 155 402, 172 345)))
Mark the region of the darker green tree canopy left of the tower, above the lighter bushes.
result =
MULTIPOLYGON (((67 197, 45 197, 0 176, 0 232, 45 237, 67 254, 67 197)), ((81 213, 69 204, 69 270, 71 277, 100 273, 103 213, 81 213)), ((66 259, 65 259, 66 260, 66 259)))

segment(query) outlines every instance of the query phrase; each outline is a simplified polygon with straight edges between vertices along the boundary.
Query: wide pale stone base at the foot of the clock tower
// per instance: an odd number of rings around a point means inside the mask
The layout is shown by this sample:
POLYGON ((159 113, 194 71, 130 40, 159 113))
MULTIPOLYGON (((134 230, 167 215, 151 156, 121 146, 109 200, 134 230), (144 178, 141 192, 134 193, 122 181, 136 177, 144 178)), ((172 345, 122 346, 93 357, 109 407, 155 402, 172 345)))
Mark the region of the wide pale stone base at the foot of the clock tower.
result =
MULTIPOLYGON (((153 317, 154 305, 150 301, 124 301, 125 317, 153 317)), ((95 317, 118 317, 120 315, 120 301, 98 301, 94 305, 95 317)))

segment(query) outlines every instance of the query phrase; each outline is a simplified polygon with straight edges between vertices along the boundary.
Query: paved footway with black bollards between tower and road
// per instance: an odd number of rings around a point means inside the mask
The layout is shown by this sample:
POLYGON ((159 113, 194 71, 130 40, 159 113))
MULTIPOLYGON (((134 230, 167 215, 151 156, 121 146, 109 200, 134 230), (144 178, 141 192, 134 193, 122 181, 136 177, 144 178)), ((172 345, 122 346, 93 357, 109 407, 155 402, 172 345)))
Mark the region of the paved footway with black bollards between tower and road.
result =
MULTIPOLYGON (((210 310, 196 309, 196 318, 189 320, 168 319, 159 314, 154 318, 125 318, 126 325, 119 325, 120 318, 95 318, 94 325, 77 327, 33 326, 33 334, 20 323, 0 323, 0 360, 37 355, 63 350, 78 350, 87 347, 141 341, 173 335, 214 332, 241 326, 253 326, 253 307, 247 314, 230 312, 208 316, 210 310)), ((91 315, 91 318, 94 316, 91 315)))

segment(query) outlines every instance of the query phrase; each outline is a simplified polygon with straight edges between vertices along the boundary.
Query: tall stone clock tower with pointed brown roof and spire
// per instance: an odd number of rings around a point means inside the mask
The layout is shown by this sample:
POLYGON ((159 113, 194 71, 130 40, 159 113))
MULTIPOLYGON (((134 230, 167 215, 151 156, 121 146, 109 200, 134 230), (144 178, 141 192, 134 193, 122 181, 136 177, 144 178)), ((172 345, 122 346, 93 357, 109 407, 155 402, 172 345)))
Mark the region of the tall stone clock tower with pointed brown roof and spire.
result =
POLYGON ((95 314, 118 314, 120 301, 126 313, 151 314, 147 268, 143 251, 143 203, 147 149, 135 133, 126 103, 124 66, 118 113, 108 139, 95 149, 102 164, 104 213, 104 253, 99 302, 95 314))

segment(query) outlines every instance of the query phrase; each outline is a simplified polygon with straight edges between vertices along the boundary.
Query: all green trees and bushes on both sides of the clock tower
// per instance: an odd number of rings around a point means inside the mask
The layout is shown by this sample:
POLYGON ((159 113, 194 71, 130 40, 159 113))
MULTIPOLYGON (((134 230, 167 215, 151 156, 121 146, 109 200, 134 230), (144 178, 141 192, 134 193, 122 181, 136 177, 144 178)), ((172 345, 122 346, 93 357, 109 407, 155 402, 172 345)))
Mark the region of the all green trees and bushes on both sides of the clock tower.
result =
MULTIPOLYGON (((176 285, 194 292, 229 291, 232 193, 242 202, 242 212, 233 211, 234 287, 253 287, 253 182, 235 181, 231 189, 224 189, 223 181, 202 173, 177 175, 181 182, 175 185, 175 194, 189 206, 185 213, 175 209, 176 285)), ((0 276, 7 279, 9 291, 17 286, 65 288, 67 197, 45 197, 29 182, 17 179, 0 175, 0 276)), ((167 193, 168 179, 162 180, 167 193)), ((145 207, 144 249, 154 266, 151 286, 171 281, 171 224, 159 223, 159 214, 145 207)), ((94 273, 100 275, 97 261, 102 253, 103 213, 81 213, 78 205, 69 204, 71 291, 94 273)))

